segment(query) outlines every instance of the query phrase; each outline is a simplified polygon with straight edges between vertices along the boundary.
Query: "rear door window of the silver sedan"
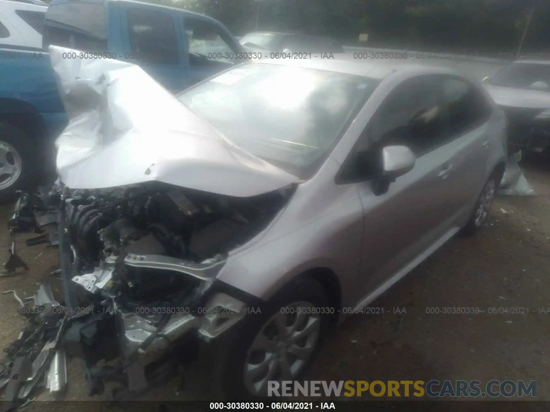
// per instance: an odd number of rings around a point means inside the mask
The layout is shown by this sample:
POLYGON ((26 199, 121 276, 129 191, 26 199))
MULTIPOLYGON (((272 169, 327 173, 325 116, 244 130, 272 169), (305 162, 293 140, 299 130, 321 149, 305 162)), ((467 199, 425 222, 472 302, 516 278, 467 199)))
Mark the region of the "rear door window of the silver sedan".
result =
POLYGON ((470 83, 447 77, 443 79, 441 87, 452 135, 466 133, 488 120, 491 106, 485 96, 470 83))

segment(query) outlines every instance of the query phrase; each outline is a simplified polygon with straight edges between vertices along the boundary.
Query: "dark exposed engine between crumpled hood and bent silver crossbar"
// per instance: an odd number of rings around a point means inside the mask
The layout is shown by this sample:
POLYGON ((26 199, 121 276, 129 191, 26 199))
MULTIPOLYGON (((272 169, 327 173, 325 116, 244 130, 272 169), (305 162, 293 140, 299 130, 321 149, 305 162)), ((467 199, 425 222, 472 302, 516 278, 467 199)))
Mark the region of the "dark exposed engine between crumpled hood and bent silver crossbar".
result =
POLYGON ((281 208, 278 192, 229 198, 166 185, 75 194, 68 229, 82 269, 124 253, 201 262, 245 242, 281 208))

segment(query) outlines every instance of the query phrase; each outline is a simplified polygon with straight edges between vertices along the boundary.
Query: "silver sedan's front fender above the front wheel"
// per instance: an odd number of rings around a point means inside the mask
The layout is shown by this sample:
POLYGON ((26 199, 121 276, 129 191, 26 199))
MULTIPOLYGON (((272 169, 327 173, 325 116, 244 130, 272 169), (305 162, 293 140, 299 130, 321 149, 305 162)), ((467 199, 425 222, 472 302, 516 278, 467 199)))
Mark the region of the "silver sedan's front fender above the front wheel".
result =
POLYGON ((349 304, 357 298, 362 219, 361 201, 355 198, 298 230, 230 256, 218 279, 268 300, 305 271, 327 268, 338 277, 342 304, 349 304))

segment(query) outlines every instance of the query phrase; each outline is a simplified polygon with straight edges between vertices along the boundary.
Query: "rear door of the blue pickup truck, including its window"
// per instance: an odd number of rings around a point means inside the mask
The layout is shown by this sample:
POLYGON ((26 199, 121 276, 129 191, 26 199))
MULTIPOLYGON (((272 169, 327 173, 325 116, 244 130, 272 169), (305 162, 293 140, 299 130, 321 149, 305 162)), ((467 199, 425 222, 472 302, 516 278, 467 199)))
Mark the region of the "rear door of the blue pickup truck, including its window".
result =
POLYGON ((153 10, 140 4, 119 4, 122 8, 123 59, 141 66, 172 93, 182 91, 188 74, 182 57, 184 45, 178 24, 180 14, 153 10))

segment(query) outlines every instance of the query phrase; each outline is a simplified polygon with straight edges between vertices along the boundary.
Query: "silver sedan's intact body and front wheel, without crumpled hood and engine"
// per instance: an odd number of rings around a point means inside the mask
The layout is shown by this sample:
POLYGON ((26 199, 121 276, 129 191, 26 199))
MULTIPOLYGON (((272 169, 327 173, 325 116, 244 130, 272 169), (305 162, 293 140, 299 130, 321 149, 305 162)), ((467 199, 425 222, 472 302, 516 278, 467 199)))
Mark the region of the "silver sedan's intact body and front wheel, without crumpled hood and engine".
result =
POLYGON ((178 98, 299 179, 288 204, 217 276, 262 309, 230 346, 224 382, 236 398, 295 380, 329 325, 457 232, 480 229, 504 172, 503 113, 447 69, 253 62, 178 98))

